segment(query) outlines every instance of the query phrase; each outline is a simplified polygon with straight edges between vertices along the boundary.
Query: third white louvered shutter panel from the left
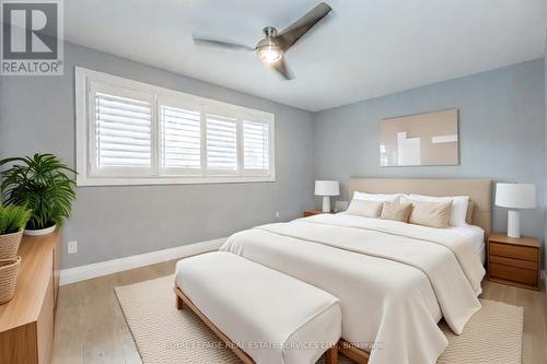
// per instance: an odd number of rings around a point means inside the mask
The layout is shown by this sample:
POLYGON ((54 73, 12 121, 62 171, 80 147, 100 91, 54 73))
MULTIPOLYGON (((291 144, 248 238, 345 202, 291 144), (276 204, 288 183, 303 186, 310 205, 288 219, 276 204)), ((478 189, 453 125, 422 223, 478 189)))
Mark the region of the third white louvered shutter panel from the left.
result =
POLYGON ((207 114, 207 169, 237 171, 236 119, 207 114))

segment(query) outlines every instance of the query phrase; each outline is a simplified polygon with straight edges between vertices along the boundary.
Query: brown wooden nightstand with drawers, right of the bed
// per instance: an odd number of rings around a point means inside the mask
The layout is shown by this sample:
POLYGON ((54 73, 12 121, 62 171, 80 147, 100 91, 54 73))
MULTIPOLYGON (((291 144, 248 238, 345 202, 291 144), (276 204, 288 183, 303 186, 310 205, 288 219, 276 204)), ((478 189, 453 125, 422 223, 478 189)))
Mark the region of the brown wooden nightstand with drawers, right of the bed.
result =
POLYGON ((539 291, 539 240, 492 233, 488 238, 488 280, 539 291))

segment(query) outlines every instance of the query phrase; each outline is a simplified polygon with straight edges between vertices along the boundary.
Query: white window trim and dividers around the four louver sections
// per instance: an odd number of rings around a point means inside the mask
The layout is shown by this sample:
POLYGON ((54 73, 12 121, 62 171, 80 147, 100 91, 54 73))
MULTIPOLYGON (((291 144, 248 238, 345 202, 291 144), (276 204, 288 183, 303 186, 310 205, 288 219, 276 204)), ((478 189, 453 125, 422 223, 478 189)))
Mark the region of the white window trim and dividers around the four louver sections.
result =
MULTIPOLYGON (((108 73, 97 72, 81 67, 74 68, 75 75, 75 149, 77 149, 77 185, 78 186, 138 186, 138 185, 187 185, 187 184, 233 184, 233 183, 258 183, 258 181, 276 181, 276 155, 275 155, 275 116, 274 114, 251 109, 237 105, 232 105, 228 103, 222 103, 216 99, 199 97, 190 95, 187 93, 159 87, 151 84, 132 81, 108 73), (100 82, 103 84, 109 84, 115 87, 124 87, 135 91, 137 93, 148 93, 153 94, 152 99, 152 175, 142 176, 135 173, 135 169, 126 174, 124 168, 113 168, 108 176, 102 173, 100 176, 94 175, 92 171, 91 150, 90 150, 90 133, 91 120, 93 118, 92 107, 90 106, 89 95, 92 82, 100 82), (237 149, 237 165, 238 171, 234 172, 234 175, 218 175, 214 171, 207 171, 207 148, 206 140, 201 141, 201 168, 200 172, 202 176, 195 176, 191 173, 186 175, 168 175, 168 169, 162 168, 158 162, 158 136, 159 136, 159 122, 158 118, 158 105, 162 99, 184 99, 184 103, 190 103, 194 105, 200 105, 205 109, 211 109, 214 114, 222 110, 223 114, 233 115, 236 118, 251 118, 252 120, 259 120, 267 122, 269 125, 269 171, 256 171, 256 169, 244 169, 243 154, 237 149), (124 173, 120 176, 120 173, 124 173), (244 175, 242 175, 244 173, 244 175)), ((201 114, 203 115, 203 114, 201 114)), ((241 124, 237 124, 237 128, 241 128, 241 124)), ((206 127, 205 119, 201 120, 201 128, 206 127)), ((202 138, 205 133, 202 132, 202 138)), ((242 133, 237 133, 238 139, 243 138, 242 133)), ((240 141, 240 140, 238 140, 240 141)), ((129 168, 131 169, 131 168, 129 168)), ((173 169, 173 168, 171 168, 173 169)), ((175 172, 175 171, 173 171, 175 172)))

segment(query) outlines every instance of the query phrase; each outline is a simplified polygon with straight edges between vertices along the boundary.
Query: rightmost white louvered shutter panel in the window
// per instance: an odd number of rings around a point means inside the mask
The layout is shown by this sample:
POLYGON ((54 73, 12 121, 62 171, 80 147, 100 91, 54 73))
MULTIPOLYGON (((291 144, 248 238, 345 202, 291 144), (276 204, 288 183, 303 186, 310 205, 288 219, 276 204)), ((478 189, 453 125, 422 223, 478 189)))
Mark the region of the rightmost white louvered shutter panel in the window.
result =
POLYGON ((269 125, 243 120, 245 169, 269 169, 269 125))

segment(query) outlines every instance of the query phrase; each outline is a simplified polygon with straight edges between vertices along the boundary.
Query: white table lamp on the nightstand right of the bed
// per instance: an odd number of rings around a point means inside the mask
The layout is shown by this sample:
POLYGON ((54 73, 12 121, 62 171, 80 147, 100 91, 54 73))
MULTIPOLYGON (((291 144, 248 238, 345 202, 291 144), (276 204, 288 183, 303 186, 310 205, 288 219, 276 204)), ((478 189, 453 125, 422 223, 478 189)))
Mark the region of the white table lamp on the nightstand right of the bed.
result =
POLYGON ((536 186, 525 184, 496 184, 496 206, 509 208, 508 236, 521 237, 521 209, 535 209, 536 186))

